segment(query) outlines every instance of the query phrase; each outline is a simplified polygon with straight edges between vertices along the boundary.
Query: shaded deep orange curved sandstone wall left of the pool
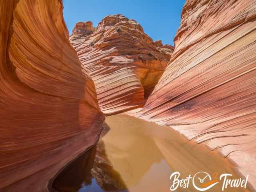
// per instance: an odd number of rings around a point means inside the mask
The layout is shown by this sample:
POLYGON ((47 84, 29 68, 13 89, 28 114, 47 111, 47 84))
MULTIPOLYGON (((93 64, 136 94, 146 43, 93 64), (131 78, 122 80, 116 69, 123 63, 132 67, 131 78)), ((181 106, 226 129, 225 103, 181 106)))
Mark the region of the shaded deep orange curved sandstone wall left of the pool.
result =
POLYGON ((48 191, 104 116, 59 0, 0 1, 0 191, 48 191), (67 155, 68 154, 68 155, 67 155))

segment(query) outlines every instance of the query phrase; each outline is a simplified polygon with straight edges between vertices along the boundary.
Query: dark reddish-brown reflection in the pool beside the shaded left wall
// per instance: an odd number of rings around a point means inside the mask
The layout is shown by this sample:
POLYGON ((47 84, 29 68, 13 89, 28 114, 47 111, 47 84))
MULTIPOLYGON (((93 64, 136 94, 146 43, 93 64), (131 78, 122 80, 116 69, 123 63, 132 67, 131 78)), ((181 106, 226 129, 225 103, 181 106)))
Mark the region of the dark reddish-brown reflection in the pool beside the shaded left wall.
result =
MULTIPOLYGON (((110 130, 105 122, 103 127, 101 137, 110 130)), ((92 185, 93 178, 96 179, 98 186, 106 192, 126 189, 120 175, 113 170, 112 164, 108 160, 102 140, 70 163, 56 177, 52 187, 60 192, 77 192, 81 186, 92 185)))

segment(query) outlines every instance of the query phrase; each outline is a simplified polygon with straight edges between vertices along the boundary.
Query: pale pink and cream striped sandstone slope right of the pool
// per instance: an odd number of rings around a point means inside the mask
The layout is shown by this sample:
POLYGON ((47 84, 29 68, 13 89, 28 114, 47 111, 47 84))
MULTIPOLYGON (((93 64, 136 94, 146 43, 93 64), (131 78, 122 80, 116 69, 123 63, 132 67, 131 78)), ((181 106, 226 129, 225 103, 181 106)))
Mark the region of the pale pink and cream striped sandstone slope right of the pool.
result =
POLYGON ((255 28, 255 0, 186 0, 170 63, 139 112, 218 150, 254 188, 255 28))

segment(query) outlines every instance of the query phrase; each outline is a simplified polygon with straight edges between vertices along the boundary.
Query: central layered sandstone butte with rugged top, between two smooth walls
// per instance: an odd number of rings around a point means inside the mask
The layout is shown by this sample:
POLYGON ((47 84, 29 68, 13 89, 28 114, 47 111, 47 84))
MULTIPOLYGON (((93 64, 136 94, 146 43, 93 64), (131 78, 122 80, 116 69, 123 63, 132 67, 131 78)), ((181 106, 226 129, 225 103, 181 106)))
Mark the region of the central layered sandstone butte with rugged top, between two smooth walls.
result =
POLYGON ((96 28, 78 22, 70 36, 96 86, 105 114, 142 106, 164 72, 173 47, 143 32, 135 20, 106 16, 96 28))

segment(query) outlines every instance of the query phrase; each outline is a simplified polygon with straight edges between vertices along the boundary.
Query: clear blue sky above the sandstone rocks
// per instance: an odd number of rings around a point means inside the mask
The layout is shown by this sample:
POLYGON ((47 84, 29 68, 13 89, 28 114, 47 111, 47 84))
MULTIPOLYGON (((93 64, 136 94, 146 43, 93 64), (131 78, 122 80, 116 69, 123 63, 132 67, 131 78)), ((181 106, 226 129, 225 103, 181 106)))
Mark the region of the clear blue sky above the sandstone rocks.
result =
POLYGON ((71 34, 76 22, 92 21, 96 27, 106 15, 135 19, 153 40, 173 45, 185 0, 63 0, 64 19, 71 34))

